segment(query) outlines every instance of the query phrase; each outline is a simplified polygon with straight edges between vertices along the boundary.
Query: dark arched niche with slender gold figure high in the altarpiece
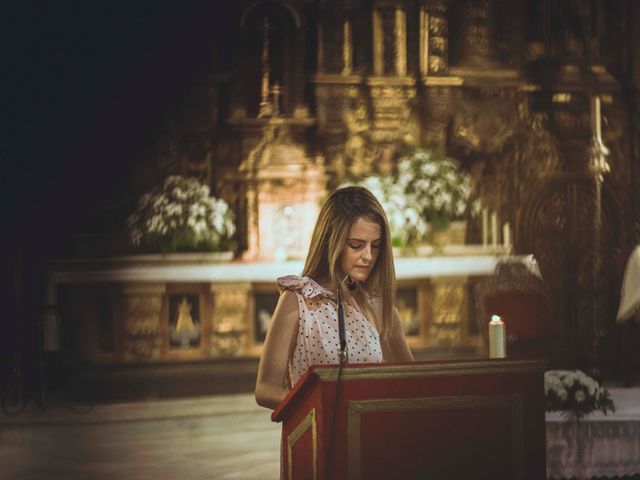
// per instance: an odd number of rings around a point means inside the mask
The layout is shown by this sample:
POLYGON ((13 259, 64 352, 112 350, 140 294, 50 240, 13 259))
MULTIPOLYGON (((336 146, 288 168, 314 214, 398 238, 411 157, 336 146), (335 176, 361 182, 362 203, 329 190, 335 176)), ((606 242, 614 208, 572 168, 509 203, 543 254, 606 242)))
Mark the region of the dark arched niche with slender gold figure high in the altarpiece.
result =
POLYGON ((243 17, 241 78, 249 117, 292 110, 295 19, 285 7, 263 2, 243 17))

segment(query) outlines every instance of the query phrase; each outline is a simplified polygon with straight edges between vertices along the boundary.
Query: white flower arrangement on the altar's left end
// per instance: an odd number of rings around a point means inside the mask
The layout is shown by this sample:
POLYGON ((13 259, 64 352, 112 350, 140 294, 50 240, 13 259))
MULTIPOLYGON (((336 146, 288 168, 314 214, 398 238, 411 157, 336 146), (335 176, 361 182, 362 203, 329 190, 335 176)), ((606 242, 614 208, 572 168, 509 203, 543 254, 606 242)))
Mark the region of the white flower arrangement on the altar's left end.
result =
POLYGON ((231 248, 233 212, 207 185, 179 175, 145 193, 127 220, 134 247, 160 252, 231 248))

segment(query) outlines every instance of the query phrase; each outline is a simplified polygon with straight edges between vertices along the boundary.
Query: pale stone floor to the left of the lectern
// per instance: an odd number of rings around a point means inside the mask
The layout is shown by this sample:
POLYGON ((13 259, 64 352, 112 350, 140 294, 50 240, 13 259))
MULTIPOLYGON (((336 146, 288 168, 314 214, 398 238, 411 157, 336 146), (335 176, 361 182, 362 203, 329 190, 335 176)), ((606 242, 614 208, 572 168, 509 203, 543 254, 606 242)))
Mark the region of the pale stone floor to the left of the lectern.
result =
POLYGON ((0 416, 2 480, 277 479, 280 425, 252 394, 0 416))

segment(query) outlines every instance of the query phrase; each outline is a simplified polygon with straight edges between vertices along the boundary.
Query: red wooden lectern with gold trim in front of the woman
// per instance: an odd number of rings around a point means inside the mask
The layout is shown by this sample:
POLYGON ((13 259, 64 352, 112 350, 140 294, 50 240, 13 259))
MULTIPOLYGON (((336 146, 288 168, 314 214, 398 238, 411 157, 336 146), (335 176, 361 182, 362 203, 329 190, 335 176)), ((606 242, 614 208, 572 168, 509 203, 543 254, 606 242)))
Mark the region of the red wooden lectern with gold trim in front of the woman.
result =
POLYGON ((271 416, 287 480, 546 477, 544 363, 312 367, 271 416))

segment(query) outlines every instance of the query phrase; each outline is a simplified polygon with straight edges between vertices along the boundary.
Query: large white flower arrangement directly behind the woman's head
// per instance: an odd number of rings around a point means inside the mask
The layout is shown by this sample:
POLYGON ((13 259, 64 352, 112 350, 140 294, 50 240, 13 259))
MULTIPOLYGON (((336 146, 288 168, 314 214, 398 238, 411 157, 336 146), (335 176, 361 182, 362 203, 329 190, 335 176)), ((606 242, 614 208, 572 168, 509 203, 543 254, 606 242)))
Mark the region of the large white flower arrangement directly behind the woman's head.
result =
POLYGON ((367 188, 380 201, 399 247, 464 218, 472 206, 469 175, 453 159, 425 149, 400 158, 393 176, 369 175, 350 184, 367 188))

